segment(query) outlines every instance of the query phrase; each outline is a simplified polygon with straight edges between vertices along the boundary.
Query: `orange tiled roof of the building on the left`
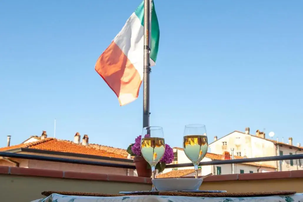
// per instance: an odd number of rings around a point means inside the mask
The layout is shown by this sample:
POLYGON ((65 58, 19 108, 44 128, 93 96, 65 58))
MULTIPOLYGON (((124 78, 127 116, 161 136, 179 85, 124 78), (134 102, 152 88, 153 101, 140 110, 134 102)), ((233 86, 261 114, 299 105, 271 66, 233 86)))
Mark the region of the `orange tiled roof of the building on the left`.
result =
POLYGON ((18 149, 18 148, 29 148, 29 149, 37 149, 37 150, 48 150, 48 151, 57 151, 57 152, 68 152, 68 153, 79 153, 79 154, 88 154, 88 155, 96 155, 102 157, 114 157, 114 158, 122 158, 126 159, 127 155, 118 153, 120 149, 115 151, 112 147, 112 150, 107 150, 106 146, 101 148, 96 148, 94 146, 84 146, 82 144, 76 144, 72 141, 67 140, 58 140, 55 138, 46 138, 44 140, 38 140, 31 143, 26 144, 18 144, 14 146, 2 147, 0 151, 18 149))

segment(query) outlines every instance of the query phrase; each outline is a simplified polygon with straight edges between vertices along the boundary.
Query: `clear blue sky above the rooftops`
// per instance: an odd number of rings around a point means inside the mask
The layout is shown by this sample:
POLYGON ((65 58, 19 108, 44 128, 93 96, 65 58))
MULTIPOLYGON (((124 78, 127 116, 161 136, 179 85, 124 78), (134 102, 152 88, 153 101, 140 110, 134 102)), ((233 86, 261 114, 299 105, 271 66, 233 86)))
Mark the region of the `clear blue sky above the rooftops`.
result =
MULTIPOLYGON (((120 107, 95 62, 141 0, 0 2, 0 146, 46 130, 126 148, 142 130, 139 98, 120 107)), ((151 125, 182 145, 185 124, 209 142, 250 127, 303 143, 303 1, 155 0, 151 125)))

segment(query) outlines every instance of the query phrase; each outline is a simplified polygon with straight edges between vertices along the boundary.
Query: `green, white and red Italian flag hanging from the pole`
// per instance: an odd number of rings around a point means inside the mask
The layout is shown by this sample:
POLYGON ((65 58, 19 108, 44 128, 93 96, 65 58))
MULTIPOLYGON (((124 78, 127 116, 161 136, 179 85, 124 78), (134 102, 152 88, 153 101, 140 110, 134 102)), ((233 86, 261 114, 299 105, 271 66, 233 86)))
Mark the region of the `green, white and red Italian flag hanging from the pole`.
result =
MULTIPOLYGON (((159 24, 155 5, 151 3, 151 52, 154 66, 158 55, 159 24)), ((126 21, 108 48, 98 58, 95 70, 118 97, 120 106, 138 98, 143 79, 144 1, 126 21)))

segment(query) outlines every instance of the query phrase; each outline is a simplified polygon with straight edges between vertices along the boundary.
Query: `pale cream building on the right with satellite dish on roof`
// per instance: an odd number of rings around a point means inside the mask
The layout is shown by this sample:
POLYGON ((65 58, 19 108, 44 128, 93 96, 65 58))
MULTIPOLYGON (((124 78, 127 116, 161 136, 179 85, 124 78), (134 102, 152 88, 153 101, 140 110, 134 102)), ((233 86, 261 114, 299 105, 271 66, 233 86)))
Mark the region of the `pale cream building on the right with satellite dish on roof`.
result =
MULTIPOLYGON (((300 144, 294 145, 291 137, 288 138, 288 143, 277 142, 265 138, 265 133, 259 130, 252 135, 249 128, 245 128, 245 132, 236 130, 219 139, 215 136, 215 141, 209 144, 209 148, 216 154, 231 152, 234 148, 234 155, 244 158, 303 154, 303 147, 300 144)), ((303 170, 302 160, 269 161, 259 164, 277 167, 278 171, 303 170)))

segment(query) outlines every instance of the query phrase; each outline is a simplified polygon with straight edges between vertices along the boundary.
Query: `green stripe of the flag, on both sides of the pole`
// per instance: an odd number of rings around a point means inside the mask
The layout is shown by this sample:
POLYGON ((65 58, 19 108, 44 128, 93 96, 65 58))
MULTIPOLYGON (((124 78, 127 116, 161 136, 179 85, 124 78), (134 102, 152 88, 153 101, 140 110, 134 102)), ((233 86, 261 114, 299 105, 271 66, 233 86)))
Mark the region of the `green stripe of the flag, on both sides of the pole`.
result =
MULTIPOLYGON (((160 39, 160 29, 159 29, 159 22, 155 10, 154 1, 152 1, 151 5, 151 59, 156 62, 158 49, 159 49, 159 39, 160 39)), ((141 21, 141 25, 144 26, 144 1, 138 6, 135 11, 135 14, 141 21)))

